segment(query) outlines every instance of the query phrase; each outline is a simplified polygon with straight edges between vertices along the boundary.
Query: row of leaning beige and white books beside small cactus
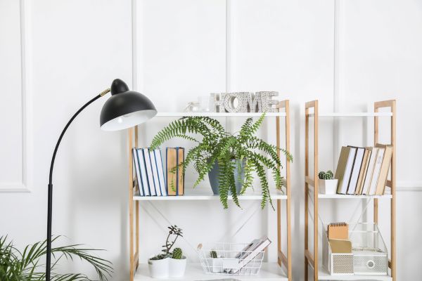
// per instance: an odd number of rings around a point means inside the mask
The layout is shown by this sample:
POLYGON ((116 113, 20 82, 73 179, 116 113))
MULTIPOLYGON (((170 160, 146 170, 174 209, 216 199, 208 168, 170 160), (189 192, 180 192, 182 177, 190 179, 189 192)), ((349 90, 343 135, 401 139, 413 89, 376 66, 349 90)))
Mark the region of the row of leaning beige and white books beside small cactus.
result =
POLYGON ((366 148, 343 146, 335 170, 337 193, 383 195, 391 157, 391 145, 377 144, 366 148))

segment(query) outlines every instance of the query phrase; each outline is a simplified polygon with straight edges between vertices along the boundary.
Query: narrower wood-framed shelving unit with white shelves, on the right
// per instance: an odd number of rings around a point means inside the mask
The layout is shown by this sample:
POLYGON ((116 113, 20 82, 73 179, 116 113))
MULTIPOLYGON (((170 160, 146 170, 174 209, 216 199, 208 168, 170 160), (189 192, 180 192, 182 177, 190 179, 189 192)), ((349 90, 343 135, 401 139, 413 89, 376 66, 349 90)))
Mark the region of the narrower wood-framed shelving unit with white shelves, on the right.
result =
MULTIPOLYGON (((308 280, 309 266, 314 269, 312 280, 396 280, 396 251, 395 251, 395 112, 396 105, 395 100, 385 100, 374 103, 373 112, 323 112, 319 113, 318 100, 312 100, 305 104, 305 280, 308 280), (388 107, 389 112, 379 112, 380 108, 388 107), (314 112, 309 112, 313 108, 314 112), (392 145, 392 160, 390 169, 390 180, 386 183, 386 190, 388 191, 385 195, 322 195, 318 192, 318 131, 319 131, 319 117, 373 117, 374 129, 373 129, 373 141, 374 144, 378 143, 378 118, 389 117, 391 120, 390 137, 392 145), (314 119, 314 163, 313 169, 309 169, 309 119, 314 119), (309 234, 308 234, 308 221, 309 221, 309 197, 312 198, 314 203, 313 211, 313 252, 309 251, 309 234), (330 275, 326 268, 321 268, 318 257, 319 250, 319 200, 326 199, 331 200, 373 200, 373 222, 378 223, 378 200, 389 200, 390 201, 390 259, 388 261, 389 274, 387 276, 375 276, 375 275, 330 275)), ((324 230, 322 230, 324 231, 324 230)))

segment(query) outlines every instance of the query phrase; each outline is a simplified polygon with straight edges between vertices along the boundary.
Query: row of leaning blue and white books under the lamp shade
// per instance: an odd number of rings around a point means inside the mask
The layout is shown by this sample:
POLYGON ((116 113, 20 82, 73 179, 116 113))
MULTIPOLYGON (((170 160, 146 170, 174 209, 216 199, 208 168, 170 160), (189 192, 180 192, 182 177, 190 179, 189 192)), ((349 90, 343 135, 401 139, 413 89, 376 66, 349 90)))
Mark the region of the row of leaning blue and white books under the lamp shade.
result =
POLYGON ((161 150, 133 148, 139 196, 167 196, 161 150))

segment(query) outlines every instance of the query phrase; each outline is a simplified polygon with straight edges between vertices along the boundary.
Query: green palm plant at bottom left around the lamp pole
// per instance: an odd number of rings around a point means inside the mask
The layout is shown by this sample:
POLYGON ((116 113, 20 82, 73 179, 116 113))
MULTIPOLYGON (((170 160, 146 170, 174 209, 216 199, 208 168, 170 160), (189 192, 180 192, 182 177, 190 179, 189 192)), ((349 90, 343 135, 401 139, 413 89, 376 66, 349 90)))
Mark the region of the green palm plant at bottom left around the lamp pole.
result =
MULTIPOLYGON (((53 238, 56 242, 60 236, 53 238)), ((82 273, 57 273, 56 266, 60 260, 75 258, 86 261, 94 267, 97 277, 94 280, 106 281, 111 277, 113 268, 110 261, 101 259, 90 254, 97 249, 86 249, 80 244, 63 247, 53 247, 51 254, 53 262, 51 266, 52 281, 90 281, 91 279, 82 273)), ((0 280, 1 281, 44 281, 45 276, 46 241, 37 242, 25 247, 23 251, 17 249, 13 242, 8 241, 6 236, 0 237, 0 280)))

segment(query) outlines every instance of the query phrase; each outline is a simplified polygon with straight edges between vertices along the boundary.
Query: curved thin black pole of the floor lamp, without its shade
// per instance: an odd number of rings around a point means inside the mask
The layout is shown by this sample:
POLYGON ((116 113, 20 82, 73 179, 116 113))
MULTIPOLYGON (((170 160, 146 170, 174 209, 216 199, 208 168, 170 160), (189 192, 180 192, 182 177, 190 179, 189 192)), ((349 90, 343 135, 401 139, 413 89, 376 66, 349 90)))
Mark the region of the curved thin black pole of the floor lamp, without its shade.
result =
POLYGON ((56 159, 56 154, 58 150, 58 146, 60 145, 60 142, 70 126, 70 124, 73 122, 73 120, 79 115, 82 110, 85 109, 88 105, 91 103, 94 103, 94 101, 98 100, 98 98, 101 98, 102 96, 106 95, 110 89, 106 89, 102 91, 98 96, 95 98, 89 100, 88 103, 85 103, 79 110, 75 113, 75 115, 70 118, 68 124, 66 124, 63 131, 60 133, 60 136, 58 137, 58 141, 56 143, 56 148, 54 148, 53 157, 51 158, 51 165, 50 165, 50 176, 49 176, 49 201, 48 201, 48 210, 47 210, 47 251, 46 251, 46 281, 50 281, 50 275, 51 275, 51 213, 53 210, 53 167, 54 167, 54 159, 56 159))

